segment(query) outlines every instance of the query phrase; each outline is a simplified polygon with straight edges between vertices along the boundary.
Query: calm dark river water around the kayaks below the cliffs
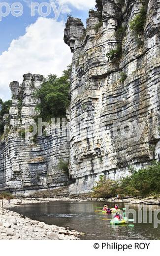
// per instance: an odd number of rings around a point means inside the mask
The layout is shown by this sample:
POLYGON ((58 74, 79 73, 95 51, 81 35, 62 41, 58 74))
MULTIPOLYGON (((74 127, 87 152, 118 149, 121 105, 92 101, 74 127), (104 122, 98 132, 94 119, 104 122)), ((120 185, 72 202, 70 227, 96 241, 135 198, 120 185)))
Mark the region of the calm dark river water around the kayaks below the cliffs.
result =
MULTIPOLYGON (((86 235, 81 239, 85 240, 160 240, 160 224, 158 228, 154 228, 154 224, 149 223, 111 226, 109 220, 102 220, 102 218, 111 218, 110 215, 95 212, 98 210, 96 207, 103 205, 103 202, 53 201, 16 206, 10 210, 46 224, 55 224, 69 227, 70 230, 75 229, 78 232, 84 232, 86 235)), ((109 203, 109 205, 114 207, 113 203, 109 203)), ((120 208, 124 208, 125 205, 128 205, 129 209, 138 211, 138 205, 119 203, 120 208)), ((147 208, 148 216, 149 206, 143 207, 147 208)), ((160 206, 150 207, 153 211, 160 209, 160 206)), ((132 219, 132 215, 129 218, 132 219)))

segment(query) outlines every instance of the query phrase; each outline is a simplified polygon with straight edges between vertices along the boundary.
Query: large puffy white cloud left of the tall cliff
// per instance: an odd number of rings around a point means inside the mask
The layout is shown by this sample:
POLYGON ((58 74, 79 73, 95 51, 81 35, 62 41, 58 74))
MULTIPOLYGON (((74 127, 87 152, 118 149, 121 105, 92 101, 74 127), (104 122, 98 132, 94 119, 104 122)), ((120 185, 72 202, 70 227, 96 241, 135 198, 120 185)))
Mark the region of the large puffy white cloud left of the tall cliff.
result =
POLYGON ((0 97, 8 98, 9 83, 22 82, 25 73, 61 75, 72 57, 63 36, 63 21, 40 17, 27 27, 25 35, 13 40, 0 55, 0 97))

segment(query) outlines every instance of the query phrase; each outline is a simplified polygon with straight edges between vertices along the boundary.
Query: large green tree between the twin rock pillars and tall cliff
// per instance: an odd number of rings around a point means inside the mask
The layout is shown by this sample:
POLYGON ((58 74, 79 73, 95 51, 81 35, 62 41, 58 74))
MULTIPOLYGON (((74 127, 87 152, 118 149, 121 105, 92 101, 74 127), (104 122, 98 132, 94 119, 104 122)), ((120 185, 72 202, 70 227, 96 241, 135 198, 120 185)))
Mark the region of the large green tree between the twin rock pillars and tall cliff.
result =
POLYGON ((68 97, 70 73, 71 65, 64 70, 61 77, 48 75, 41 88, 36 92, 36 96, 40 99, 37 110, 40 111, 40 117, 43 121, 49 122, 51 118, 66 116, 66 109, 70 103, 68 97))

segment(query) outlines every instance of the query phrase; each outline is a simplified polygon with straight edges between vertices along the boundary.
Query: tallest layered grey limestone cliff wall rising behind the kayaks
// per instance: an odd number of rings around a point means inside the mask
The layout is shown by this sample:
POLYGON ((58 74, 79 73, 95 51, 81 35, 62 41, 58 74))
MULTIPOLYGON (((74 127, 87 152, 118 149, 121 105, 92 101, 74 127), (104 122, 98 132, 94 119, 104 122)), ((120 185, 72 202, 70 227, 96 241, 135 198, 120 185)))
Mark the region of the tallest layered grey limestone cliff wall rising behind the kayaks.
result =
POLYGON ((144 32, 136 35, 130 22, 142 2, 103 0, 101 16, 89 12, 86 31, 75 18, 66 23, 71 193, 90 191, 100 175, 120 179, 129 166, 160 160, 160 1, 149 0, 144 32), (122 55, 111 60, 119 45, 122 55))

